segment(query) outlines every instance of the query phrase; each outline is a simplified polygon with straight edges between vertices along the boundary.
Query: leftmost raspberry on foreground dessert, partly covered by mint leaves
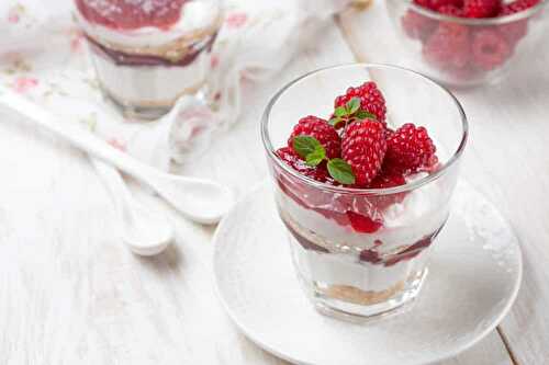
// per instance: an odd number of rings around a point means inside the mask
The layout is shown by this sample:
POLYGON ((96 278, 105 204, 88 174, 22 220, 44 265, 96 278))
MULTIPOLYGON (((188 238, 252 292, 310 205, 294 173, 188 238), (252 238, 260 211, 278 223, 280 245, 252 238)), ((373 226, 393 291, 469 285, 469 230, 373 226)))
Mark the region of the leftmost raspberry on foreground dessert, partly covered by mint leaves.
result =
POLYGON ((301 118, 293 127, 293 132, 288 139, 288 146, 293 146, 293 137, 311 136, 316 138, 326 149, 326 156, 329 159, 341 156, 341 138, 336 129, 330 126, 325 119, 310 115, 301 118))

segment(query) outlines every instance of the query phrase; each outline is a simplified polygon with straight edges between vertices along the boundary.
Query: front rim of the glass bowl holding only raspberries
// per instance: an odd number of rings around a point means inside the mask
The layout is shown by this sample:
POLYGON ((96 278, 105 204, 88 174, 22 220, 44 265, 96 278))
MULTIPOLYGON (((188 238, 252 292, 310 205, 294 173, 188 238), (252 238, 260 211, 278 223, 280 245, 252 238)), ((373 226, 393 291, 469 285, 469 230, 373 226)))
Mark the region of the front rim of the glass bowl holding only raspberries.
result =
POLYGON ((405 1, 410 8, 414 9, 414 11, 418 12, 422 15, 432 18, 432 19, 437 20, 437 21, 453 22, 453 23, 462 24, 462 25, 479 25, 479 26, 482 26, 482 25, 504 25, 507 23, 514 23, 514 22, 533 16, 537 12, 541 11, 541 9, 547 3, 549 3, 549 0, 541 0, 536 5, 529 8, 525 11, 520 11, 518 13, 515 13, 515 14, 498 16, 498 18, 473 19, 473 18, 458 18, 458 16, 452 16, 452 15, 440 14, 434 10, 429 10, 429 9, 425 9, 423 7, 419 7, 418 4, 414 3, 413 0, 390 0, 390 1, 405 1))

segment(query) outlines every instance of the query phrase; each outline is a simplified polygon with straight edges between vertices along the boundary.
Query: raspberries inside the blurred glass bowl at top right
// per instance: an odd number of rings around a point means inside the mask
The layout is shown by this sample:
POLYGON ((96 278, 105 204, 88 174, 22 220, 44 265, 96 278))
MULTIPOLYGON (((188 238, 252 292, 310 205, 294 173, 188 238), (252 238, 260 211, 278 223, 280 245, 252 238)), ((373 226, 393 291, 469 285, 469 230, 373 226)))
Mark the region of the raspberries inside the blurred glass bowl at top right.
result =
MULTIPOLYGON (((453 18, 493 19, 526 11, 540 1, 414 0, 414 3, 453 18)), ((480 26, 437 21, 411 9, 401 22, 407 36, 422 43, 425 61, 457 81, 479 78, 505 65, 528 33, 527 19, 480 26)))

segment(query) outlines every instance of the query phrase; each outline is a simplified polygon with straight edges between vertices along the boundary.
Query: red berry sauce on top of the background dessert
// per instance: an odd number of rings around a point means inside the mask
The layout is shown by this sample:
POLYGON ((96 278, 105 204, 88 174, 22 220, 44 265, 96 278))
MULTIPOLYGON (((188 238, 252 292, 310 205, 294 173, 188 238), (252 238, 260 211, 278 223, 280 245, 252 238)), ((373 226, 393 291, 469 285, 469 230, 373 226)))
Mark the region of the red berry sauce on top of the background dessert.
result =
POLYGON ((188 0, 76 0, 90 23, 131 31, 144 26, 168 30, 179 21, 188 0))

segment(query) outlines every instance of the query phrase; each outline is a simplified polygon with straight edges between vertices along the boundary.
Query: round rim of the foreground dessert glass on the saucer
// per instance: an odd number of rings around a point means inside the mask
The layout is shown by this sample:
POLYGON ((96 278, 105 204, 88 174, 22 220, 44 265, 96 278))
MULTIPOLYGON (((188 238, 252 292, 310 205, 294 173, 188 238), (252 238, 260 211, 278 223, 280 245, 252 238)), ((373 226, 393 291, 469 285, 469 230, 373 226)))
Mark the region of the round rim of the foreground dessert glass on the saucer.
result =
POLYGON ((360 62, 352 62, 352 64, 344 64, 344 65, 337 65, 337 66, 329 66, 329 67, 323 67, 313 71, 310 71, 292 81, 287 83, 282 89, 280 89, 269 101, 267 104, 267 107, 265 109, 264 115, 261 117, 261 140, 264 148, 267 151, 268 157, 274 161, 274 163, 281 168, 283 171, 288 172, 292 176, 296 178, 298 180, 301 180, 305 184, 313 185, 314 187, 317 187, 320 190, 324 191, 329 191, 333 193, 341 193, 341 194, 352 194, 352 195, 370 195, 370 196, 381 196, 381 195, 389 195, 389 194, 397 194, 397 193, 403 193, 403 192, 410 192, 413 190, 416 190, 421 186, 424 186, 438 178, 446 174, 446 172, 449 170, 450 167, 452 167, 459 158, 463 155, 463 150, 467 145, 467 140, 469 137, 469 122, 467 119, 466 112, 463 111, 463 107, 461 106, 460 102, 458 99, 444 85, 439 84, 438 82, 434 81, 432 78, 416 72, 414 70, 411 70, 408 68, 400 67, 400 66, 393 66, 393 65, 385 65, 385 64, 360 64, 360 62), (411 183, 406 183, 404 185, 400 186, 394 186, 394 187, 385 187, 385 189, 357 189, 357 187, 345 187, 345 186, 334 186, 329 185, 327 183, 323 183, 320 181, 316 181, 314 179, 311 179, 309 176, 305 176, 294 169, 290 168, 288 164, 282 162, 280 158, 276 155, 276 150, 272 147, 270 137, 269 137, 269 121, 270 121, 270 114, 272 111, 272 107, 277 104, 279 101, 280 96, 284 94, 285 91, 288 91, 291 87, 295 85, 300 81, 307 79, 309 77, 312 77, 317 73, 322 73, 325 71, 333 71, 333 70, 338 70, 338 69, 345 69, 345 68, 365 68, 365 69, 384 69, 384 70, 392 70, 392 71, 399 71, 399 72, 406 72, 411 73, 413 76, 416 76, 430 84, 433 84, 435 88, 438 88, 440 91, 446 93, 451 101, 453 101, 456 107, 458 109, 458 112, 460 114, 460 119, 461 119, 461 127, 462 127, 462 135, 461 135, 461 140, 459 142, 459 146, 457 150, 452 153, 452 156, 448 159, 448 161, 442 166, 441 169, 429 173, 427 176, 424 176, 422 179, 418 179, 416 181, 413 181, 411 183))

